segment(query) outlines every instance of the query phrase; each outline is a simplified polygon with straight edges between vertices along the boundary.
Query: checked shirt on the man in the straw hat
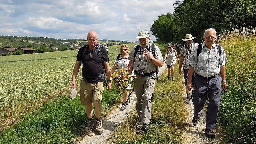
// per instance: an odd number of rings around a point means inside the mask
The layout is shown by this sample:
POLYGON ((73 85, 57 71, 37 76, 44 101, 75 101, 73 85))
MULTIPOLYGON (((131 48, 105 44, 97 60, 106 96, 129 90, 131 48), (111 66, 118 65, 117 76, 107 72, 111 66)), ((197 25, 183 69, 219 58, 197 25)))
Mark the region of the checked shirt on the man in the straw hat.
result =
MULTIPOLYGON (((186 44, 187 45, 187 44, 186 44)), ((187 45, 188 46, 188 45, 187 45)), ((192 42, 192 46, 191 47, 189 47, 188 46, 188 48, 190 49, 190 51, 192 52, 193 51, 193 49, 195 48, 195 47, 197 47, 198 46, 198 43, 195 43, 195 42, 192 42)), ((188 62, 187 62, 187 59, 188 59, 188 56, 189 56, 189 51, 188 51, 188 49, 186 48, 186 46, 184 45, 184 46, 182 46, 181 47, 181 52, 180 52, 180 57, 183 57, 184 58, 184 61, 183 61, 183 68, 184 69, 189 69, 189 64, 188 64, 188 62)))

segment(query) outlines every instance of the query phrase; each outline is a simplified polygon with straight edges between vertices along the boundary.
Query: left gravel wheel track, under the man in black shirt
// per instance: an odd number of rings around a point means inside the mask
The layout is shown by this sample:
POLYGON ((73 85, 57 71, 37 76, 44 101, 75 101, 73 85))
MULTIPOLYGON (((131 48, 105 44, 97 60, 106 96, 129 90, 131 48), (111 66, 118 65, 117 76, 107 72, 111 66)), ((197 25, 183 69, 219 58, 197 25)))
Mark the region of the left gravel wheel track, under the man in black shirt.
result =
MULTIPOLYGON (((159 67, 158 77, 162 74, 162 72, 166 68, 166 63, 162 67, 159 67)), ((118 125, 125 120, 125 116, 127 113, 131 112, 135 109, 137 98, 135 93, 132 93, 130 98, 130 104, 126 105, 126 110, 120 111, 121 104, 119 107, 115 108, 111 114, 107 117, 107 119, 103 120, 103 133, 101 135, 96 135, 95 132, 91 134, 91 136, 84 137, 82 141, 78 142, 78 144, 107 144, 108 138, 114 133, 114 131, 118 128, 118 125)))

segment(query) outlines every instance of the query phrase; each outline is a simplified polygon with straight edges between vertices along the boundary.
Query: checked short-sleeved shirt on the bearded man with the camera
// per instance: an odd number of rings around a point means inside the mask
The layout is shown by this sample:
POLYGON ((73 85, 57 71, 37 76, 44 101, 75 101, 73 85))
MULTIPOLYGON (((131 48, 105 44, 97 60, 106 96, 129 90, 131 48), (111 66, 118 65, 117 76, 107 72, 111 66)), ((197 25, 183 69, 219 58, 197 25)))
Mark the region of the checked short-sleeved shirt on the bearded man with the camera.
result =
MULTIPOLYGON (((156 65, 150 61, 150 59, 148 59, 143 52, 138 52, 136 54, 136 57, 134 59, 134 53, 135 53, 135 48, 136 48, 136 45, 133 47, 129 57, 128 57, 128 60, 130 61, 134 61, 134 64, 133 64, 133 69, 135 71, 139 71, 141 69, 144 69, 145 70, 145 73, 150 73, 152 71, 154 71, 156 69, 156 65)), ((139 51, 142 51, 144 48, 142 48, 140 46, 139 48, 139 51)), ((151 51, 151 44, 148 45, 148 48, 147 48, 149 51, 151 51)), ((153 56, 153 54, 151 53, 151 56, 153 56)), ((160 60, 160 61, 163 61, 163 56, 162 56, 162 53, 159 49, 158 46, 155 45, 155 56, 154 58, 160 60)))

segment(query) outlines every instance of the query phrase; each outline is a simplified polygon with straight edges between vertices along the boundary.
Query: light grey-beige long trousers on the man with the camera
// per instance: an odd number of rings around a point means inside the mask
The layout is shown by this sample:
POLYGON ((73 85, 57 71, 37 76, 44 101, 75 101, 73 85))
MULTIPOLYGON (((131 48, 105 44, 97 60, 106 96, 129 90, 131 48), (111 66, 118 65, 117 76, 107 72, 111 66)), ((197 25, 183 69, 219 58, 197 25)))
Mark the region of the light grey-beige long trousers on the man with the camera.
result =
POLYGON ((137 97, 136 110, 141 116, 141 124, 149 124, 151 118, 151 97, 155 88, 156 75, 141 77, 136 75, 134 92, 137 97))

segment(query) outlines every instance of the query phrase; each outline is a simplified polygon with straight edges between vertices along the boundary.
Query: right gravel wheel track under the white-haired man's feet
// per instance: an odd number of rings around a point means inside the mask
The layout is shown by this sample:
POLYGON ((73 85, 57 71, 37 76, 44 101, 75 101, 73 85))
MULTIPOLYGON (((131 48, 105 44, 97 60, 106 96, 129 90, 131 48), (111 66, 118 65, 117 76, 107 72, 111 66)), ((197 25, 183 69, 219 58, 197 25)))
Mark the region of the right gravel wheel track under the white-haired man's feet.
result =
MULTIPOLYGON (((184 89, 183 99, 184 99, 184 101, 186 101, 187 96, 186 96, 185 86, 183 86, 183 89, 184 89)), ((185 124, 184 128, 182 129, 183 136, 184 136, 183 142, 186 144, 222 144, 221 134, 219 133, 218 127, 216 127, 214 129, 214 133, 216 135, 215 138, 210 139, 204 134, 204 132, 205 132, 205 114, 206 114, 207 105, 205 105, 203 108, 203 114, 201 116, 201 119, 199 119, 199 123, 197 126, 194 126, 192 124, 192 119, 193 119, 192 100, 190 99, 189 105, 187 105, 187 104, 185 104, 185 105, 187 108, 186 110, 188 112, 187 113, 188 115, 187 115, 186 124, 185 124)))

